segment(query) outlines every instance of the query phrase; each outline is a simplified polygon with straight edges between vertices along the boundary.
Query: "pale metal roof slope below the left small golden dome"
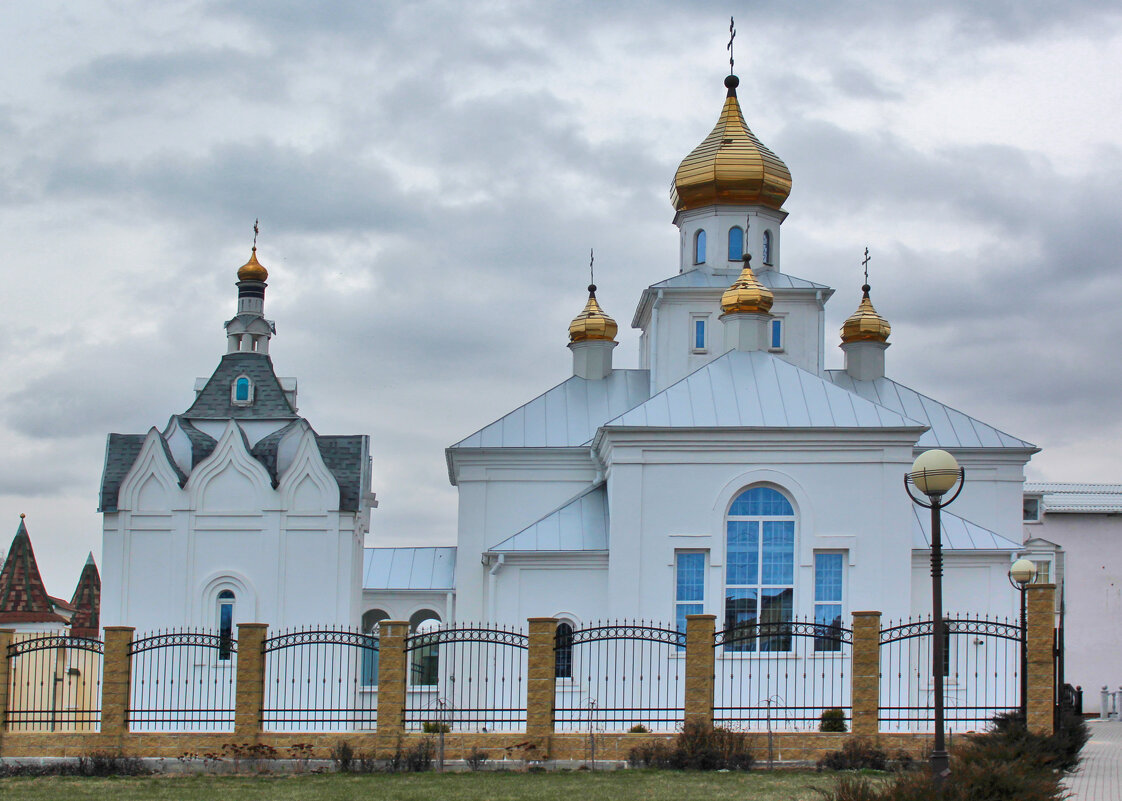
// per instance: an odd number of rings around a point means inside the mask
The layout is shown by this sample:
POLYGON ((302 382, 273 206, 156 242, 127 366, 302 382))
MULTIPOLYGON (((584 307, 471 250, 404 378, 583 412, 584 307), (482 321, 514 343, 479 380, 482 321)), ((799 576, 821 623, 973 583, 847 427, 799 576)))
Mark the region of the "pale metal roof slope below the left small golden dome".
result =
POLYGON ((452 448, 577 448, 605 421, 650 394, 646 370, 613 370, 606 378, 571 378, 539 395, 452 448))

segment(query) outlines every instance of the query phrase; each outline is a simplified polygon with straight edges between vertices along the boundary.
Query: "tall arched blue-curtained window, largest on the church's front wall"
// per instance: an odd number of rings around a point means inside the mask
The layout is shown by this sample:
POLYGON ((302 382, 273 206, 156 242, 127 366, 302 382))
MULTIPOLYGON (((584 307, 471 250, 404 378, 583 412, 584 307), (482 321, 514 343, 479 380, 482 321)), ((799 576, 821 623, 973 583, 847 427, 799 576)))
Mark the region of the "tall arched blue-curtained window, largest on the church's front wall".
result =
POLYGON ((725 628, 762 626, 758 641, 730 650, 790 651, 774 624, 794 613, 794 508, 779 490, 752 487, 736 496, 726 521, 725 628))

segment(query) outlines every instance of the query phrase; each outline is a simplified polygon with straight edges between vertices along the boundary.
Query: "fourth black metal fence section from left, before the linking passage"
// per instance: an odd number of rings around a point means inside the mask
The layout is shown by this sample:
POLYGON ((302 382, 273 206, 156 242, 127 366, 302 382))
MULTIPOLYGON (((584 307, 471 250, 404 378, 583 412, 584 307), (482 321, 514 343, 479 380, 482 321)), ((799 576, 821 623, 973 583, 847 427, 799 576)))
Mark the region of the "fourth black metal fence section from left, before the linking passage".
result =
POLYGON ((405 728, 521 731, 530 639, 518 628, 454 625, 405 638, 405 728))

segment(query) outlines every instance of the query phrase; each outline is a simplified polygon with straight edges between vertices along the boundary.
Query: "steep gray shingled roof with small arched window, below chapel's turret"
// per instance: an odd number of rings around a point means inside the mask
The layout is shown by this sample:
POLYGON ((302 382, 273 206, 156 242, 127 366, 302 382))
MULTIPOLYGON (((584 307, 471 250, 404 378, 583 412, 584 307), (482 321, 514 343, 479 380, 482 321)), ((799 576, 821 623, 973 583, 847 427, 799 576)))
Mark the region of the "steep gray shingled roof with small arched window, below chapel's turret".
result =
POLYGON ((211 375, 206 386, 183 413, 196 420, 278 420, 295 418, 296 412, 273 371, 273 360, 265 353, 227 353, 211 375), (238 376, 254 383, 254 402, 237 406, 230 399, 230 387, 238 376))

